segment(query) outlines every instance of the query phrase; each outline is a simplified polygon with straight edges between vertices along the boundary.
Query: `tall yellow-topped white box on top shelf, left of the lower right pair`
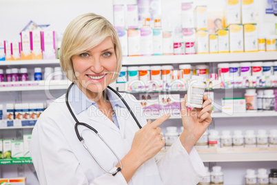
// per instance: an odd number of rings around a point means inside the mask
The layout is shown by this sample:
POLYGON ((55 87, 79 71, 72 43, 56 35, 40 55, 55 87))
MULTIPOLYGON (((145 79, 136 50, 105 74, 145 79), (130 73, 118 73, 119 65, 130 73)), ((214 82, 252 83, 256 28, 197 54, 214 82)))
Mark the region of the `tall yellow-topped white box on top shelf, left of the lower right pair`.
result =
POLYGON ((229 42, 230 52, 243 52, 243 25, 242 24, 230 24, 229 29, 229 42))

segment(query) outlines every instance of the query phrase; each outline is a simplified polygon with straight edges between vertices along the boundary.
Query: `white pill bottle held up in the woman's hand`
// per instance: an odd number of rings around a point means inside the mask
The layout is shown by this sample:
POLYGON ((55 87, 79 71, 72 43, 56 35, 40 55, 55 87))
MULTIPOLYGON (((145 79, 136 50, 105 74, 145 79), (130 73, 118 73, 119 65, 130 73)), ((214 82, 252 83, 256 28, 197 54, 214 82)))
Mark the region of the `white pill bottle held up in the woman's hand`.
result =
POLYGON ((193 75, 189 80, 189 87, 187 88, 187 102, 188 109, 202 108, 203 95, 205 92, 204 78, 193 75))

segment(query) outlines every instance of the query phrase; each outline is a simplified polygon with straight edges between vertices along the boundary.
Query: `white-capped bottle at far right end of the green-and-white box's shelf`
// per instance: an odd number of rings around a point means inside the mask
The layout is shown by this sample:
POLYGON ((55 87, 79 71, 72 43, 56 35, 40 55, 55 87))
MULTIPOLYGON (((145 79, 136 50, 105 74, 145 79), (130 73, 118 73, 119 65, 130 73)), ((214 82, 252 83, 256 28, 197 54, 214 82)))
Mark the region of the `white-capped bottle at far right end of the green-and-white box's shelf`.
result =
POLYGON ((263 110, 275 111, 275 95, 273 89, 263 91, 263 110))

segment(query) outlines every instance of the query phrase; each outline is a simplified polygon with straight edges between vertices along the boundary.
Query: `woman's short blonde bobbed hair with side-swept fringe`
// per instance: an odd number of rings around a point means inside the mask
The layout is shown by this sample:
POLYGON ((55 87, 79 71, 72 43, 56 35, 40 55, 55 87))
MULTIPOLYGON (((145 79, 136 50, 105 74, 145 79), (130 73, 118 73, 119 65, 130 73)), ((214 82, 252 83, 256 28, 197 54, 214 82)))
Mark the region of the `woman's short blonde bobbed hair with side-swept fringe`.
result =
POLYGON ((119 77, 122 61, 121 44, 116 30, 107 19, 94 13, 82 14, 71 21, 64 32, 60 50, 61 68, 70 81, 76 81, 72 56, 94 48, 109 36, 112 37, 116 53, 116 71, 112 83, 119 77))

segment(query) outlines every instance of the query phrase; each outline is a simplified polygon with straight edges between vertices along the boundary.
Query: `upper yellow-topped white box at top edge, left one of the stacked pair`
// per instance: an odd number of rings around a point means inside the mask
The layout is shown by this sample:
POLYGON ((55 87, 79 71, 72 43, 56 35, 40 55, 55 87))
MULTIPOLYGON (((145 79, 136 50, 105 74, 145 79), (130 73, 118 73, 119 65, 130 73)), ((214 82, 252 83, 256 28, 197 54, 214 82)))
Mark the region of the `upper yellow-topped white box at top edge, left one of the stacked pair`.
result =
POLYGON ((231 23, 241 23, 241 0, 227 0, 227 8, 225 14, 225 25, 229 26, 231 23))

